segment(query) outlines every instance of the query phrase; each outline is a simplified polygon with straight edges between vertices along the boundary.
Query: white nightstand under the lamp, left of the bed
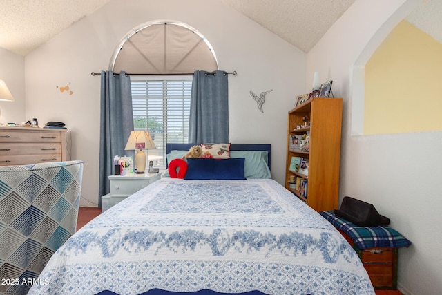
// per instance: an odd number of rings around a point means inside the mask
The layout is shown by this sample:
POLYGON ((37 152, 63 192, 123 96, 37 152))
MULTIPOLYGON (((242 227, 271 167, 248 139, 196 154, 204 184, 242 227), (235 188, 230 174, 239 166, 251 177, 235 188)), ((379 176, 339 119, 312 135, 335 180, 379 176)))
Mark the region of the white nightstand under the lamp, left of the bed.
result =
POLYGON ((102 212, 118 204, 133 193, 159 180, 161 173, 110 175, 111 193, 102 196, 102 212))

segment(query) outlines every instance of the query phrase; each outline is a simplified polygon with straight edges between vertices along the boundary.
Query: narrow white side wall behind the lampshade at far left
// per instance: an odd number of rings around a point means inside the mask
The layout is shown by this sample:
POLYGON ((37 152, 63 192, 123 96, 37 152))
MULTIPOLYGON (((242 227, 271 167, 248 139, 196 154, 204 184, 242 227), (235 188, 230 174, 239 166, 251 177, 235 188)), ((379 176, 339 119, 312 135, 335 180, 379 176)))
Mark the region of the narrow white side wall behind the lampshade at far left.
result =
POLYGON ((32 120, 25 117, 25 59, 0 48, 0 80, 3 80, 15 102, 0 102, 0 124, 32 120))

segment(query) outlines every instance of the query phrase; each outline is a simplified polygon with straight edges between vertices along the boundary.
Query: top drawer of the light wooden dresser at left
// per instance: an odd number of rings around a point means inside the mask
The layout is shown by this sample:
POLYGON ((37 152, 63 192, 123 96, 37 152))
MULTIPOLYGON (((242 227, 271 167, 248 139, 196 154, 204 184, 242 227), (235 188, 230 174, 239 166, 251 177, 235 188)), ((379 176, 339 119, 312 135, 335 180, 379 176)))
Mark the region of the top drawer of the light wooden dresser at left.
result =
POLYGON ((61 134, 42 131, 1 131, 0 142, 61 142, 61 134))

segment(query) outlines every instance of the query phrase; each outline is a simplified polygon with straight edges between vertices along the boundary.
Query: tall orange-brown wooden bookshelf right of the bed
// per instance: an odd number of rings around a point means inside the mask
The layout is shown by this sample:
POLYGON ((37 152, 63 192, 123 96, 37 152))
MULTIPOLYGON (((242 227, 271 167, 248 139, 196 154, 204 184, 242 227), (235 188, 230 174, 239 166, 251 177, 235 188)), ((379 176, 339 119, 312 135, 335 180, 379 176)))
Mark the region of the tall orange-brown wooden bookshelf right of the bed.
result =
POLYGON ((316 211, 338 209, 342 98, 309 99, 289 111, 285 186, 316 211), (308 117, 307 126, 302 120, 308 117), (297 126, 301 126, 297 129, 297 126), (291 151, 291 135, 309 133, 309 151, 291 151), (290 171, 292 157, 308 159, 308 175, 290 171), (307 180, 307 196, 290 188, 290 176, 307 180))

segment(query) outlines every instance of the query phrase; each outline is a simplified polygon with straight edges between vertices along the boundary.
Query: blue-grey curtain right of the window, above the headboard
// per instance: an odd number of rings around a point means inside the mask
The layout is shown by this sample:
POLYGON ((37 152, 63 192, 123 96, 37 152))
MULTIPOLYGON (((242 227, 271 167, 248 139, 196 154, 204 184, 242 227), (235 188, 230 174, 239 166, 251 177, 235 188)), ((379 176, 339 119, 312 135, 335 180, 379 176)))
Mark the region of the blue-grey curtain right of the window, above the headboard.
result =
POLYGON ((222 70, 193 73, 189 142, 229 142, 229 84, 222 70))

